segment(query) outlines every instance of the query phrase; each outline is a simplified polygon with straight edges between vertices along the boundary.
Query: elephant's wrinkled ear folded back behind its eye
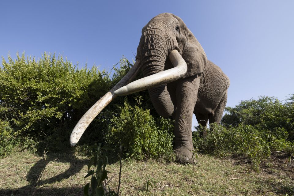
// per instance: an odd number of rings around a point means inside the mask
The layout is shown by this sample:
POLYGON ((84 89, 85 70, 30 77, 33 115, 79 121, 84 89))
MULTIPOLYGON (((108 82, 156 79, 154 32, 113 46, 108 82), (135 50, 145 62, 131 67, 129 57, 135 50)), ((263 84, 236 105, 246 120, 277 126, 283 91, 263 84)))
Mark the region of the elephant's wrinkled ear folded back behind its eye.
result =
POLYGON ((183 76, 183 78, 194 76, 205 71, 207 66, 206 54, 198 40, 189 29, 187 43, 183 50, 182 57, 188 66, 187 73, 183 76))

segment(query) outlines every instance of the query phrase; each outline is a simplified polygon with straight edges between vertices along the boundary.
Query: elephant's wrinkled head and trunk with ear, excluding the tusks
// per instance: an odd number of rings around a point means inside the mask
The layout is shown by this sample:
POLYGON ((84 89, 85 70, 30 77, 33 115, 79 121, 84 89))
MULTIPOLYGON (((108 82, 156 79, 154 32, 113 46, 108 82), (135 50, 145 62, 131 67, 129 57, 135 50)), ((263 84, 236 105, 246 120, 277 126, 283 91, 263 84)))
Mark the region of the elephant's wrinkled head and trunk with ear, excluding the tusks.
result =
MULTIPOLYGON (((187 72, 183 78, 200 74, 205 69, 205 52, 182 19, 171 13, 159 14, 142 29, 136 58, 142 63, 143 75, 170 69, 172 65, 168 56, 173 50, 179 51, 187 63, 187 72)), ((148 91, 158 114, 168 117, 174 113, 174 104, 166 84, 148 91)))

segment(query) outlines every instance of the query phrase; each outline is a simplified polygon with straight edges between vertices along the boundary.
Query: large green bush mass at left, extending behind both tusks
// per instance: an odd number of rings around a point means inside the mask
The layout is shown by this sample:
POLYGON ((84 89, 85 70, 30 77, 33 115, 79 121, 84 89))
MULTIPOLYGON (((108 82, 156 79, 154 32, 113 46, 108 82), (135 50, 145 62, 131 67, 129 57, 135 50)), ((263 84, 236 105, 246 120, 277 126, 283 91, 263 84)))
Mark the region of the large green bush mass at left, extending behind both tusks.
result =
MULTIPOLYGON (((38 61, 25 58, 24 54, 17 54, 15 60, 8 57, 7 62, 2 58, 0 137, 5 141, 0 143, 0 156, 17 144, 22 147, 36 145, 40 152, 44 148, 55 151, 68 147, 70 132, 77 121, 132 66, 126 58, 120 59, 118 64, 111 76, 105 70, 98 70, 97 66, 78 68, 61 55, 56 57, 44 53, 38 61)), ((141 77, 141 73, 138 77, 141 77)), ((147 91, 126 96, 129 104, 136 105, 137 96, 145 100, 141 107, 150 109, 158 119, 147 91)), ((107 130, 113 114, 118 113, 118 106, 122 106, 123 102, 123 96, 112 101, 87 128, 79 144, 103 143, 103 131, 107 130)), ((87 145, 82 149, 89 149, 87 145)))

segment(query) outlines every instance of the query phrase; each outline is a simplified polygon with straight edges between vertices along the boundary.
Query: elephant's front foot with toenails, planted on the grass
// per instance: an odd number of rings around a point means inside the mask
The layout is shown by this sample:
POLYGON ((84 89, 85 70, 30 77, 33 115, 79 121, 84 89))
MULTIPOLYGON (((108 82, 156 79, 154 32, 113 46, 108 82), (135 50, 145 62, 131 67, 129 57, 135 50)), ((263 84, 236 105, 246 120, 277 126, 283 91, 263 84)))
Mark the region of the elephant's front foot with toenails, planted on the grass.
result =
POLYGON ((181 164, 195 163, 194 156, 193 156, 193 150, 194 150, 194 148, 187 148, 187 147, 175 148, 176 162, 179 162, 181 164))

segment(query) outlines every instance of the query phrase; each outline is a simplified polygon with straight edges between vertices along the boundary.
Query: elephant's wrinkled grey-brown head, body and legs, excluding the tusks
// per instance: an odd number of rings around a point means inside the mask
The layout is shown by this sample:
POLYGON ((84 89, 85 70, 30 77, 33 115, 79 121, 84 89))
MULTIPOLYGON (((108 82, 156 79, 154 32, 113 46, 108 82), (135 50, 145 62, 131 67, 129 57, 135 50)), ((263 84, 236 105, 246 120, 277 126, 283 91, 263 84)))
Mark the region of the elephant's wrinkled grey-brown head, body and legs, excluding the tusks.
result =
POLYGON ((168 54, 178 50, 187 63, 183 78, 148 89, 159 115, 175 119, 175 155, 180 163, 192 160, 192 115, 199 124, 220 123, 230 81, 221 69, 207 60, 205 52, 179 17, 162 13, 142 29, 136 59, 144 77, 172 68, 168 54))

